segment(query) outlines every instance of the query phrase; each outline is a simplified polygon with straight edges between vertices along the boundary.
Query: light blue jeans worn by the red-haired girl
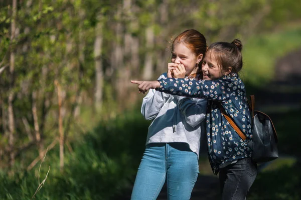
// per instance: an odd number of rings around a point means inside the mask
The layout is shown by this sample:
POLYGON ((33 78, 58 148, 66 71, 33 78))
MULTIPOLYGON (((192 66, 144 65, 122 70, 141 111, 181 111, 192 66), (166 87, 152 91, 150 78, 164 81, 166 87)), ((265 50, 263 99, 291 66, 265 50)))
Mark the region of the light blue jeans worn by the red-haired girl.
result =
POLYGON ((198 172, 198 156, 188 144, 150 143, 141 159, 131 199, 156 199, 165 181, 168 199, 190 199, 198 172))

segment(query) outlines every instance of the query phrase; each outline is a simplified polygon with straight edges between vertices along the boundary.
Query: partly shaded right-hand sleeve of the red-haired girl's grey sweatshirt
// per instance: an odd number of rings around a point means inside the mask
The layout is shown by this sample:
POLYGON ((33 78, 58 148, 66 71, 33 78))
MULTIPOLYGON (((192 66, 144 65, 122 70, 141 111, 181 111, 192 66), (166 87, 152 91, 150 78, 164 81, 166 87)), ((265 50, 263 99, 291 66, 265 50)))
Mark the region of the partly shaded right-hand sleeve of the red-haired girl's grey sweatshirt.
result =
POLYGON ((197 126, 206 118, 207 100, 175 95, 178 107, 185 121, 192 127, 197 126))

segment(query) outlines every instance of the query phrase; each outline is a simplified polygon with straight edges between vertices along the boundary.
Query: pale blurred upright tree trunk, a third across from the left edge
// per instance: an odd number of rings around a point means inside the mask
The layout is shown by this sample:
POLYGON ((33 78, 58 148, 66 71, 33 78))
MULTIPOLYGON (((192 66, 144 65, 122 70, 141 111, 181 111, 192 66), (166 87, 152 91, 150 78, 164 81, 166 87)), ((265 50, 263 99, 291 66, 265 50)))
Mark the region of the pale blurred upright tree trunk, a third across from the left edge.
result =
POLYGON ((95 99, 94 106, 96 112, 101 111, 102 93, 103 93, 103 69, 102 69, 102 14, 98 13, 97 25, 95 27, 95 41, 94 41, 94 59, 95 59, 95 99))

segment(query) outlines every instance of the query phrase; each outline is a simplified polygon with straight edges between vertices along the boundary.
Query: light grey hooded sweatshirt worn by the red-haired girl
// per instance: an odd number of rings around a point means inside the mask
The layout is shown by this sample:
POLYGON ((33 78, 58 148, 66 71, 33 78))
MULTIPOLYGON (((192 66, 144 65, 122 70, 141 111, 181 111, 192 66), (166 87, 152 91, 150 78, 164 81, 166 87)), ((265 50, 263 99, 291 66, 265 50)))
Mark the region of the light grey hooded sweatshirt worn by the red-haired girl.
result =
MULTIPOLYGON (((159 79, 163 77, 167 77, 167 73, 163 73, 159 79)), ((144 118, 153 120, 148 127, 146 144, 185 142, 199 156, 200 143, 206 139, 204 135, 206 109, 206 99, 172 95, 150 89, 141 106, 144 118)))

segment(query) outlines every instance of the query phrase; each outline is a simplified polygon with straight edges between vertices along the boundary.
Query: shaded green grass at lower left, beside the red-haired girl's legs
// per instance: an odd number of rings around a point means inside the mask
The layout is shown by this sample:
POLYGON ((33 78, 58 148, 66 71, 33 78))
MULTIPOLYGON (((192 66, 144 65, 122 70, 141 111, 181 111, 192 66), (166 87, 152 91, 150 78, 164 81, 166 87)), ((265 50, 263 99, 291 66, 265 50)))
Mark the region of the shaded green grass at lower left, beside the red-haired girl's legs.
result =
MULTIPOLYGON (((58 146, 51 149, 42 163, 40 181, 49 165, 51 169, 37 199, 109 199, 122 191, 133 181, 148 124, 138 109, 100 121, 71 143, 73 152, 65 154, 63 173, 59 170, 58 146)), ((16 169, 13 176, 0 170, 0 199, 30 199, 38 187, 38 167, 29 172, 16 169)))

